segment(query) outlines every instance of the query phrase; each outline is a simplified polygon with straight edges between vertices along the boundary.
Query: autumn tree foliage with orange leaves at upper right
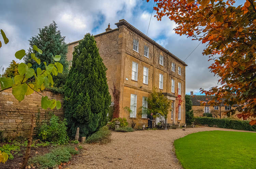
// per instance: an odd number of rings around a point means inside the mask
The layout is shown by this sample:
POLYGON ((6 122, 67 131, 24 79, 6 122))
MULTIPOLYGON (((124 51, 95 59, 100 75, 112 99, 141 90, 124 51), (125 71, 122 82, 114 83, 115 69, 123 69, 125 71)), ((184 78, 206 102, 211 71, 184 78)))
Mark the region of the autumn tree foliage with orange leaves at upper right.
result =
MULTIPOLYGON (((147 0, 149 1, 149 0, 147 0)), ((251 119, 256 124, 256 3, 246 0, 239 5, 234 0, 154 0, 158 20, 163 16, 177 24, 175 33, 206 43, 203 55, 214 63, 209 67, 217 75, 220 86, 205 95, 214 95, 210 105, 224 101, 238 104, 227 116, 251 119)), ((206 104, 206 102, 201 102, 206 104)))

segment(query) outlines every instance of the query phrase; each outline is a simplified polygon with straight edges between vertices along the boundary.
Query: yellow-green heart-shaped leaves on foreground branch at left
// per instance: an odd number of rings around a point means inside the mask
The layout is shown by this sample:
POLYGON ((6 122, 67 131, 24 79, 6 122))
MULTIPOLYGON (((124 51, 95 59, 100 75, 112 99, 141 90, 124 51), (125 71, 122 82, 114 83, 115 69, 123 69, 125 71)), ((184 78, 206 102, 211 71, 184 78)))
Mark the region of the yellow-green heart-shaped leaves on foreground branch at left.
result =
MULTIPOLYGON (((42 54, 42 50, 38 49, 37 46, 33 46, 33 50, 37 51, 39 54, 42 54)), ((15 53, 15 57, 21 60, 26 55, 25 50, 19 50, 15 53)), ((58 73, 62 73, 63 66, 58 61, 60 60, 60 55, 53 56, 54 64, 47 65, 46 62, 43 62, 45 65, 45 70, 37 68, 35 71, 31 63, 25 64, 20 63, 18 65, 18 75, 15 75, 13 78, 6 78, 5 76, 0 78, 1 91, 12 88, 13 96, 18 100, 22 101, 25 98, 25 95, 31 95, 34 91, 38 92, 44 90, 45 87, 48 87, 50 84, 53 85, 53 75, 56 76, 58 73)), ((34 60, 37 64, 41 64, 39 58, 35 57, 35 53, 31 53, 30 60, 34 60)), ((0 75, 1 76, 1 75, 0 75)), ((41 94, 40 94, 41 95, 41 94)), ((47 96, 42 96, 41 107, 47 109, 48 107, 53 109, 60 109, 60 101, 55 99, 50 100, 47 96)))

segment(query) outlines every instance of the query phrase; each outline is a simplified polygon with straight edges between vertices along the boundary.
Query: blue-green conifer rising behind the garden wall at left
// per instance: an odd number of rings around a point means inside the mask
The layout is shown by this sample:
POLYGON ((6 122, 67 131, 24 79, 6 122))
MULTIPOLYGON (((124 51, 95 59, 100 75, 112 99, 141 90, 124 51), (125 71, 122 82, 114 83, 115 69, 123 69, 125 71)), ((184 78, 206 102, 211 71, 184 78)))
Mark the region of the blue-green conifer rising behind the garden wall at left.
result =
POLYGON ((49 26, 45 26, 44 28, 39 28, 39 33, 37 36, 33 36, 29 41, 29 49, 28 53, 24 56, 23 60, 25 64, 31 63, 34 70, 37 68, 45 69, 44 64, 35 64, 36 62, 31 59, 31 53, 33 51, 33 45, 40 48, 43 53, 35 53, 35 57, 38 57, 41 61, 46 62, 46 64, 54 64, 53 57, 55 55, 60 55, 60 61, 63 65, 62 73, 58 73, 56 77, 53 77, 54 86, 61 87, 66 83, 66 79, 68 76, 69 63, 67 62, 67 53, 68 53, 68 45, 65 43, 65 36, 61 36, 60 30, 57 30, 57 23, 53 21, 53 23, 49 24, 49 26))

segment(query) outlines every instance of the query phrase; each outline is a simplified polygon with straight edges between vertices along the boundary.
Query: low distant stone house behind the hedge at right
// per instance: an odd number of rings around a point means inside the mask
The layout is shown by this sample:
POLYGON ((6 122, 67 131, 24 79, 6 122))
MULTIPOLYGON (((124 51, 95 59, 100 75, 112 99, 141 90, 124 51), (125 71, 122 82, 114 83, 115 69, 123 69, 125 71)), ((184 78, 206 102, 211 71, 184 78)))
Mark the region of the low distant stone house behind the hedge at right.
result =
MULTIPOLYGON (((201 105, 200 101, 208 102, 210 101, 214 96, 203 96, 203 95, 194 95, 193 91, 190 92, 191 100, 192 100, 192 109, 194 110, 194 116, 202 117, 204 113, 211 113, 213 118, 226 118, 226 115, 223 115, 223 113, 228 112, 231 109, 235 109, 238 105, 224 105, 223 103, 220 103, 216 106, 210 106, 208 104, 201 105)), ((236 111, 236 114, 239 114, 238 111, 236 111)), ((232 116, 232 118, 239 119, 236 114, 232 116)), ((242 120, 242 119, 240 119, 242 120)))

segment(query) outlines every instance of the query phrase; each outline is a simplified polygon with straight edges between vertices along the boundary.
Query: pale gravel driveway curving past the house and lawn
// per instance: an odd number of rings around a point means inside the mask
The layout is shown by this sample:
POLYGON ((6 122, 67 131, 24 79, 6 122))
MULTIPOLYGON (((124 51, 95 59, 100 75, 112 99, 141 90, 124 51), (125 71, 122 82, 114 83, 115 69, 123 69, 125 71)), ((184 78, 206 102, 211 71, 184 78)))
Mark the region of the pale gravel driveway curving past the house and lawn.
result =
MULTIPOLYGON (((112 132, 107 144, 85 144, 84 150, 66 168, 69 169, 182 169, 175 156, 173 141, 200 131, 238 131, 198 127, 170 130, 112 132)), ((245 131, 248 132, 248 131, 245 131)), ((192 140, 193 141, 193 140, 192 140)))

